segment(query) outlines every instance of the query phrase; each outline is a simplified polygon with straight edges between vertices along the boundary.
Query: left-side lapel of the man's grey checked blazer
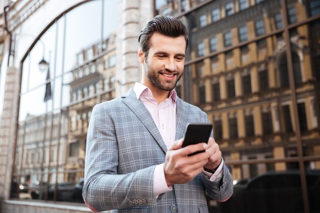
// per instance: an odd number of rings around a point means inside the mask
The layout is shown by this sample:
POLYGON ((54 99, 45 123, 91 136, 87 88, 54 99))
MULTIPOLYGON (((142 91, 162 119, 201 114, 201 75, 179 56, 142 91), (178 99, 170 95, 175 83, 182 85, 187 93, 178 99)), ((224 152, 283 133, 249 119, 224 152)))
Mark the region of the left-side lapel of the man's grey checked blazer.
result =
MULTIPOLYGON (((124 96, 122 96, 122 101, 129 109, 139 118, 141 123, 148 129, 152 137, 157 141, 162 150, 166 153, 167 146, 162 139, 162 136, 156 127, 151 114, 145 105, 136 98, 133 89, 130 89, 124 96)), ((138 135, 139 137, 139 135, 138 135)))

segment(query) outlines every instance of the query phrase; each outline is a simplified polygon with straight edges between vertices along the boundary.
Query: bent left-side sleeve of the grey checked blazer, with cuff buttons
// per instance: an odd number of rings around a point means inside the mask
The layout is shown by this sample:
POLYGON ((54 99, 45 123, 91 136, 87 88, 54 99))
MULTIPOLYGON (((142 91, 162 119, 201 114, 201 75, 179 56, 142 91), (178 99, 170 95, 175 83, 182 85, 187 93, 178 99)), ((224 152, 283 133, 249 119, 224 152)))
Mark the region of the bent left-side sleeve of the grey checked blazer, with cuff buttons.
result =
POLYGON ((154 205, 155 166, 128 174, 118 174, 117 131, 107 111, 106 105, 98 104, 90 118, 83 199, 93 211, 154 205))

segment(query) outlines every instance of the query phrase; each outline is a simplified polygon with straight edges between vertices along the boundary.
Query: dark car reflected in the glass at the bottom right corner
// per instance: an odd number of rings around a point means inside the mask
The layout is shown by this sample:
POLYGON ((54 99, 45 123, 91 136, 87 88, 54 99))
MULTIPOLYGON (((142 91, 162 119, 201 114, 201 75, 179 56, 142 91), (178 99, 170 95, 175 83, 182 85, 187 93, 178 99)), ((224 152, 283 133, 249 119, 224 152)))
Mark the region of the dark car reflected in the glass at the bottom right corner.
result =
MULTIPOLYGON (((320 171, 306 171, 310 212, 320 212, 320 171)), ((219 203, 223 213, 304 212, 300 171, 269 172, 235 184, 232 197, 219 203)))

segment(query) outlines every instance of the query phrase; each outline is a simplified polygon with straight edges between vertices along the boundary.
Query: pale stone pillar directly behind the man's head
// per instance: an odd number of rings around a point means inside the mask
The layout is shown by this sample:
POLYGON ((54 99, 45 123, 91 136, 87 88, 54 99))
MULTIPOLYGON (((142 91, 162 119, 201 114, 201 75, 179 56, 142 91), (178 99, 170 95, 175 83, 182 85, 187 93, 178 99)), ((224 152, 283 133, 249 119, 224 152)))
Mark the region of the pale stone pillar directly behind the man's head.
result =
POLYGON ((118 11, 116 97, 141 81, 138 38, 142 28, 153 17, 153 1, 119 0, 118 11))

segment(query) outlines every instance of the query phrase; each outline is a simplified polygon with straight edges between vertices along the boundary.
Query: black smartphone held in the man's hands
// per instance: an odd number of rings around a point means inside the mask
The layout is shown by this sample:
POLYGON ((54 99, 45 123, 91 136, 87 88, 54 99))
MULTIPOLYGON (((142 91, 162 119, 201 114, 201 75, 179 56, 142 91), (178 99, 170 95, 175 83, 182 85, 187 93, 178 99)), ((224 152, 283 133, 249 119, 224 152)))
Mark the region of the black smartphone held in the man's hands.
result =
MULTIPOLYGON (((184 143, 182 143, 182 148, 189 145, 198 144, 198 143, 208 143, 209 137, 212 131, 211 123, 190 123, 187 127, 184 143)), ((194 152, 191 155, 204 152, 198 151, 194 152)))

